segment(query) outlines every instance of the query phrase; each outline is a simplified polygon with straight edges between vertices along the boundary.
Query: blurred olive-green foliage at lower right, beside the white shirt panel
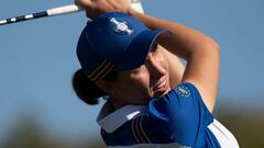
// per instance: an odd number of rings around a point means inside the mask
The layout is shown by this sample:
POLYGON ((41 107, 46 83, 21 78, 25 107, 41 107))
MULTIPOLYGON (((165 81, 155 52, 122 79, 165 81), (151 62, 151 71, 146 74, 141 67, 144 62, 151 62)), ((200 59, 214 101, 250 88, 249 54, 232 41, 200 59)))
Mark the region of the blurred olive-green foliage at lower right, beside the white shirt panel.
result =
POLYGON ((246 112, 226 111, 217 116, 235 136, 241 148, 264 148, 264 112, 245 114, 246 112))

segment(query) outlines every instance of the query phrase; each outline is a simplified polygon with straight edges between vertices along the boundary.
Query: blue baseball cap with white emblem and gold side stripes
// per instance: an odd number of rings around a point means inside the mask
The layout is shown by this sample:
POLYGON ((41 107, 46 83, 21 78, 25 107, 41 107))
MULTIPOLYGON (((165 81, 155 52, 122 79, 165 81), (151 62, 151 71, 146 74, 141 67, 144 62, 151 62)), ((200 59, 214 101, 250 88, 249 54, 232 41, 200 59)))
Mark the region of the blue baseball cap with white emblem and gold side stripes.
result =
POLYGON ((124 13, 106 13, 87 23, 78 41, 77 56, 87 77, 96 81, 112 69, 140 67, 163 32, 151 31, 124 13))

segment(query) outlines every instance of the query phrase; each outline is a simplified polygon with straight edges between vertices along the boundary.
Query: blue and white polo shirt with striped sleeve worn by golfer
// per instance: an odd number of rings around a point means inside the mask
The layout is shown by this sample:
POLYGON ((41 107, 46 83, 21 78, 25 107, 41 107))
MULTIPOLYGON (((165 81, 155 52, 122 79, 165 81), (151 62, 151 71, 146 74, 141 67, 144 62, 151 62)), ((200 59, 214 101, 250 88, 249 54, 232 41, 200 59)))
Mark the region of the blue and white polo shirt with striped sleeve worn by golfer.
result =
POLYGON ((232 134, 215 122, 195 86, 186 82, 147 105, 128 105, 111 113, 103 106, 98 123, 111 148, 238 146, 232 134))

